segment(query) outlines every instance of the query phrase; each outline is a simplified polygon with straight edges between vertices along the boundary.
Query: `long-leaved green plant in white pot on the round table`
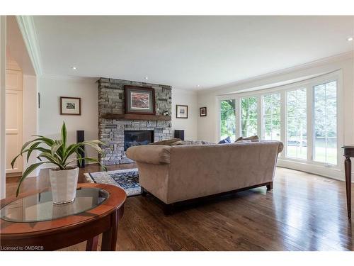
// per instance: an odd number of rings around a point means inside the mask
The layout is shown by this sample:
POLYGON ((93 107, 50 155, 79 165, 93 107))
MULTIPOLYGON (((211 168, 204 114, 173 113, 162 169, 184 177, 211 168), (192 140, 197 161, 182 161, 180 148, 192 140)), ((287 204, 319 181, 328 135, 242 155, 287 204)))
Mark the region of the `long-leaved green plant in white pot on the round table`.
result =
POLYGON ((37 138, 25 143, 21 149, 21 153, 13 158, 11 162, 12 167, 15 164, 16 159, 20 155, 23 155, 23 153, 27 153, 28 162, 33 151, 36 150, 40 152, 37 157, 40 162, 28 166, 25 172, 23 172, 22 177, 18 180, 16 196, 18 196, 18 192, 20 192, 20 186, 25 177, 28 177, 28 174, 45 163, 56 165, 56 167, 50 169, 49 172, 54 204, 66 204, 75 199, 79 167, 72 166, 71 164, 73 162, 79 161, 79 165, 81 165, 82 160, 84 159, 89 162, 97 162, 105 171, 107 171, 105 165, 102 165, 96 158, 81 157, 79 153, 79 151, 84 151, 84 145, 89 145, 102 155, 103 150, 99 145, 105 145, 105 143, 100 140, 90 140, 67 145, 67 128, 65 123, 62 125, 61 133, 61 140, 52 140, 50 138, 45 138, 42 135, 34 135, 34 137, 37 138), (70 157, 71 155, 76 155, 76 157, 70 157))

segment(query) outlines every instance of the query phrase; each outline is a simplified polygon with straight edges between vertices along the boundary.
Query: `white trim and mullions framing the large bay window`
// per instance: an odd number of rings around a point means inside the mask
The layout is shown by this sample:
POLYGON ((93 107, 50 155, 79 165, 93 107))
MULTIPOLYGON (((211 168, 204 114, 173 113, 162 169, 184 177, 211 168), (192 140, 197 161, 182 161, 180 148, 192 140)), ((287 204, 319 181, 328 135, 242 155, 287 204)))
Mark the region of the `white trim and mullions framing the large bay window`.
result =
MULTIPOLYGON (((275 92, 280 92, 280 120, 281 120, 281 127, 280 127, 280 140, 282 143, 285 143, 286 140, 286 101, 285 101, 285 92, 294 90, 294 89, 301 89, 307 88, 307 135, 311 135, 311 138, 307 137, 307 146, 312 147, 307 149, 307 160, 297 159, 292 157, 286 157, 286 145, 284 145, 284 150, 280 154, 278 160, 278 166, 281 167, 288 167, 295 170, 301 170, 306 172, 312 172, 314 174, 321 174, 326 177, 332 177, 336 179, 343 179, 343 163, 342 162, 342 150, 341 146, 343 145, 344 134, 343 134, 343 77, 342 71, 336 70, 329 74, 324 74, 319 77, 314 77, 312 79, 306 79, 301 82, 295 82, 292 84, 282 85, 280 87, 274 87, 269 89, 260 89, 258 91, 252 92, 241 92, 236 94, 228 94, 225 96, 217 96, 219 101, 219 109, 220 110, 220 102, 226 99, 235 99, 236 101, 236 125, 239 128, 236 128, 236 138, 241 135, 241 98, 244 97, 258 97, 258 123, 257 123, 257 131, 258 135, 261 138, 264 137, 263 135, 263 95, 265 94, 272 94, 275 92), (313 128, 314 128, 314 112, 313 109, 313 87, 316 84, 323 84, 326 82, 337 82, 337 165, 326 165, 323 162, 315 162, 312 160, 313 158, 313 128), (310 133, 310 134, 309 134, 310 133)), ((220 114, 218 116, 219 123, 218 123, 218 132, 217 136, 220 139, 220 114)))

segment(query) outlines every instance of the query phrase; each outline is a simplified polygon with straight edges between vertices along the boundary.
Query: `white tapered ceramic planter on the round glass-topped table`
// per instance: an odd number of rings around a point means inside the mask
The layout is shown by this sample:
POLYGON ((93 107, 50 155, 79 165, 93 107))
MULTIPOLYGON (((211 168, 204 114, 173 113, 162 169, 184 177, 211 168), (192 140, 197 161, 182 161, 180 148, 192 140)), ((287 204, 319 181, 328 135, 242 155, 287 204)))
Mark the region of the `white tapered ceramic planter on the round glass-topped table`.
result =
POLYGON ((79 167, 71 170, 50 170, 50 185, 54 204, 66 204, 74 201, 76 196, 79 167))

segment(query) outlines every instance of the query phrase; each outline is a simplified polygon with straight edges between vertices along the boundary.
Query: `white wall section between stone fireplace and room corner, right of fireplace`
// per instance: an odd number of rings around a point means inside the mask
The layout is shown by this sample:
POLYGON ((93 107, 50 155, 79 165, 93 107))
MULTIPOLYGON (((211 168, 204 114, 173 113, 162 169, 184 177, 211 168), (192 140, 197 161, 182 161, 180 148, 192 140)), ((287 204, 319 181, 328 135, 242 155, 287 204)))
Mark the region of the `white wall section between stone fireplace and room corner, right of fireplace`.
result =
MULTIPOLYGON (((184 89, 172 89, 172 130, 184 130, 185 140, 198 139, 198 95, 184 89), (176 104, 188 105, 188 118, 176 118, 176 104)), ((174 133, 173 133, 174 134, 174 133)))

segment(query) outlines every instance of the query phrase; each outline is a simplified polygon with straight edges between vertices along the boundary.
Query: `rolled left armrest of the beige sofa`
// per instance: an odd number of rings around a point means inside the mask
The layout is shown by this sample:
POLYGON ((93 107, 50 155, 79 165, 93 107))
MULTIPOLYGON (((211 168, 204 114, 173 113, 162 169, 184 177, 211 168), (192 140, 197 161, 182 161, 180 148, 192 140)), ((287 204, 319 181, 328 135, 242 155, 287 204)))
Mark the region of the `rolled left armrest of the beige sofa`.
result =
POLYGON ((164 165, 170 163, 171 147, 167 145, 141 145, 127 149, 127 157, 137 162, 145 162, 152 165, 164 165))

